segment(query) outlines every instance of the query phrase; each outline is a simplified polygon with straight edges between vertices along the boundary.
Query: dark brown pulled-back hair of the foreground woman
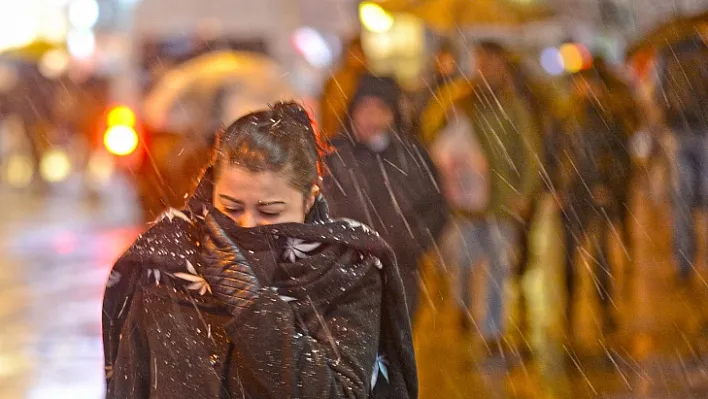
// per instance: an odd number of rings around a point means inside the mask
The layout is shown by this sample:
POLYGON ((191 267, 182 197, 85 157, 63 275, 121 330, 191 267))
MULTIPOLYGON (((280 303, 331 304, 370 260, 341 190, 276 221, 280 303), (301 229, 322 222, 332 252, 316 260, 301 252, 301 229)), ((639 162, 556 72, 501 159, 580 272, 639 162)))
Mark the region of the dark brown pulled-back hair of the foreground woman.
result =
POLYGON ((307 111, 298 103, 280 102, 239 118, 218 134, 214 178, 226 165, 288 173, 291 185, 306 194, 321 175, 326 151, 307 111))

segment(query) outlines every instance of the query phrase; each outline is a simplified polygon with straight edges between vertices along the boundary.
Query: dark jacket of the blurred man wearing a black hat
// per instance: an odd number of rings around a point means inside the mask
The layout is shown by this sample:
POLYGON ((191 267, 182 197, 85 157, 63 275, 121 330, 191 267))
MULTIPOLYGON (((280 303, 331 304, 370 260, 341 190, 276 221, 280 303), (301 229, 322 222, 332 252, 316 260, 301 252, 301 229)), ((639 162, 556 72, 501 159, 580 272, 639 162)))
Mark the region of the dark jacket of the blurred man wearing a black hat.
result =
POLYGON ((390 140, 379 153, 348 137, 333 140, 324 187, 333 215, 361 220, 391 245, 412 309, 418 261, 442 232, 447 206, 425 149, 411 137, 390 140))

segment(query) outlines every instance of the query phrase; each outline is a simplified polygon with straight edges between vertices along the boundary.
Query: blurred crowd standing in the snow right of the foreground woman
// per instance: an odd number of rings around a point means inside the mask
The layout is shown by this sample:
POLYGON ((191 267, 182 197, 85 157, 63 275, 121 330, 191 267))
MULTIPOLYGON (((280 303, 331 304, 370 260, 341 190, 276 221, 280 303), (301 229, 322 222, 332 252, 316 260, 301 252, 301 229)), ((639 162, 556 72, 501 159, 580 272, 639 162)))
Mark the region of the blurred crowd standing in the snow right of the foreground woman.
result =
MULTIPOLYGON (((658 176, 648 171, 659 165, 668 176, 680 287, 695 279, 693 210, 708 199, 708 48, 700 38, 657 56, 650 94, 628 65, 600 55, 561 81, 527 65, 494 41, 442 41, 422 88, 405 92, 370 72, 355 40, 320 102, 320 127, 337 150, 325 176, 334 214, 387 239, 414 318, 422 264, 434 259, 458 304, 460 328, 490 348, 501 349, 510 328, 505 287, 528 272, 544 202, 562 221, 572 342, 581 253, 590 259, 601 333, 618 328, 615 263, 633 267, 630 197, 640 181, 656 185, 646 181, 658 176), (611 256, 617 243, 622 259, 611 256), (484 274, 483 297, 473 295, 475 274, 484 274), (475 301, 484 302, 480 318, 475 301)), ((525 302, 521 295, 514 326, 522 334, 525 302)))

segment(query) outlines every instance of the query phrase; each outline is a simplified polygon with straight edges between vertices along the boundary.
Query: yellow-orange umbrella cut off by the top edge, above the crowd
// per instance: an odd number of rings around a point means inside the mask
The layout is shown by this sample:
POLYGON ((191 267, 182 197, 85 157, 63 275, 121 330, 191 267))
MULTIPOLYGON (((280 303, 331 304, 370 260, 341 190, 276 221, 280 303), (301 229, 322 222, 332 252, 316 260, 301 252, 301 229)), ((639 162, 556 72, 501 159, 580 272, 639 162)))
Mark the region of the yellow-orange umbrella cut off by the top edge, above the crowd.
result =
POLYGON ((378 0, 385 10, 410 13, 441 32, 474 25, 522 25, 553 15, 535 2, 513 0, 378 0))

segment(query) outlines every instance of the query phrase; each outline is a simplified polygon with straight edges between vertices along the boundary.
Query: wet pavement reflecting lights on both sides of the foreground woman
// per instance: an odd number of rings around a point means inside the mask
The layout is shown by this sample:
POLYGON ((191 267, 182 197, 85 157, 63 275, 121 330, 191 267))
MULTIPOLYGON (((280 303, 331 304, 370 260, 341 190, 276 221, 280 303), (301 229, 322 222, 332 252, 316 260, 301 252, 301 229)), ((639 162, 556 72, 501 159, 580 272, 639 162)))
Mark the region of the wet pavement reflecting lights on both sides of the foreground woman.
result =
MULTIPOLYGON (((139 231, 131 199, 120 193, 89 201, 76 193, 42 198, 0 191, 0 398, 102 397, 103 288, 111 263, 139 231)), ((665 208, 637 196, 631 270, 624 251, 615 251, 624 264, 615 281, 618 333, 599 334, 594 287, 581 271, 573 340, 560 310, 562 241, 552 201, 544 209, 523 286, 529 329, 521 334, 519 312, 510 312, 501 354, 489 354, 474 332, 460 328, 444 273, 434 262, 426 265, 415 323, 421 397, 708 397, 701 318, 708 285, 698 279, 693 289, 676 288, 665 208)))

